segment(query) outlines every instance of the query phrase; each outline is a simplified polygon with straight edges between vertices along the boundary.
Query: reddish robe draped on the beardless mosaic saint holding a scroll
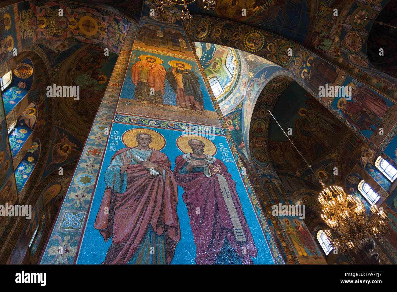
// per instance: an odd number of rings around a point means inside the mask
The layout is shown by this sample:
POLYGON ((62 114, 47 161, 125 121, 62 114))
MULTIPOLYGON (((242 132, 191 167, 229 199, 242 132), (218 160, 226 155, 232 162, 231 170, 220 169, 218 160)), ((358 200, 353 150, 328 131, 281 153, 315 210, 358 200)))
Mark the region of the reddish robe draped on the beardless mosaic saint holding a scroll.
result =
MULTIPOLYGON (((134 147, 120 149, 116 157, 134 147)), ((151 175, 140 164, 131 164, 127 168, 127 191, 116 193, 106 186, 94 228, 100 230, 105 242, 111 236, 115 244, 124 243, 113 264, 126 264, 148 232, 152 228, 158 236, 165 235, 167 262, 170 263, 176 245, 181 239, 179 219, 176 212, 178 203, 177 184, 170 170, 168 157, 151 149, 149 161, 160 165, 165 170, 163 175, 151 175), (105 214, 107 207, 108 215, 105 214), (114 210, 114 212, 113 212, 114 210)))

